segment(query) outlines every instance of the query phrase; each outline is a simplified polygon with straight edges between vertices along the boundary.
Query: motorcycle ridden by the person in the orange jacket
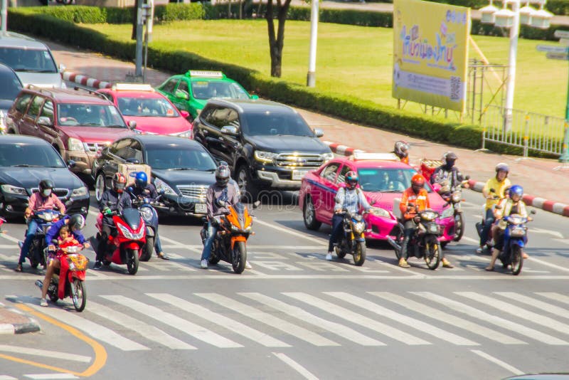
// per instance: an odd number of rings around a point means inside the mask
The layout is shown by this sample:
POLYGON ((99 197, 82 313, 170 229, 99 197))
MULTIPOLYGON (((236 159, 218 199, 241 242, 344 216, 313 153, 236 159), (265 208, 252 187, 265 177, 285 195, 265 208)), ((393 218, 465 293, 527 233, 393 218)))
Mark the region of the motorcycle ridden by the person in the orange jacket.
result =
MULTIPOLYGON (((424 258, 427 267, 430 270, 435 270, 438 268, 441 260, 438 237, 442 234, 442 228, 437 223, 437 218, 440 215, 437 211, 427 209, 417 213, 417 216, 420 218, 420 221, 418 228, 408 243, 408 256, 411 257, 415 255, 416 258, 424 258)), ((403 231, 405 231, 403 221, 398 220, 398 226, 399 229, 397 235, 395 235, 395 239, 388 236, 387 240, 395 250, 395 256, 400 260, 404 238, 403 231)))

